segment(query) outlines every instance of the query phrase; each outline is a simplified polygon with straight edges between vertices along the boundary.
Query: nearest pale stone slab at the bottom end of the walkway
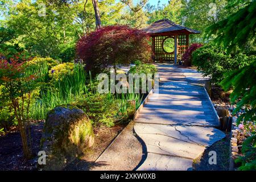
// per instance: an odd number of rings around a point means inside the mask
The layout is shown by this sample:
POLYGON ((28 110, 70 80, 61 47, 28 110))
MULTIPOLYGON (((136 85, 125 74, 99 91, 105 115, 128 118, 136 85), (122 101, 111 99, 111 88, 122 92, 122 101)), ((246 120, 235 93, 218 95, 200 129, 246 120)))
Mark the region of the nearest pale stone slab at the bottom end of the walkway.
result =
POLYGON ((191 171, 191 159, 148 153, 138 171, 191 171))

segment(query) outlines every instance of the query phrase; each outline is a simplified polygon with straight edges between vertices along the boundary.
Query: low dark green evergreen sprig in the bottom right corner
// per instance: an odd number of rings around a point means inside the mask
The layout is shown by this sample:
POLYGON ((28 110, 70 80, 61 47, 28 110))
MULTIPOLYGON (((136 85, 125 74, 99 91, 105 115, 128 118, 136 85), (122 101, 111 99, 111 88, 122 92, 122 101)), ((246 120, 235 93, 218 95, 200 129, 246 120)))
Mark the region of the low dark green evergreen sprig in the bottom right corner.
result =
POLYGON ((242 153, 244 156, 236 159, 236 162, 242 163, 239 167, 241 171, 256 170, 256 135, 248 137, 242 145, 242 153))

